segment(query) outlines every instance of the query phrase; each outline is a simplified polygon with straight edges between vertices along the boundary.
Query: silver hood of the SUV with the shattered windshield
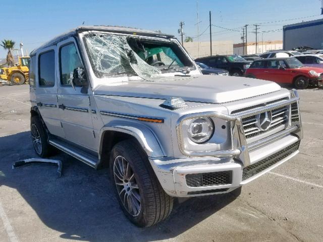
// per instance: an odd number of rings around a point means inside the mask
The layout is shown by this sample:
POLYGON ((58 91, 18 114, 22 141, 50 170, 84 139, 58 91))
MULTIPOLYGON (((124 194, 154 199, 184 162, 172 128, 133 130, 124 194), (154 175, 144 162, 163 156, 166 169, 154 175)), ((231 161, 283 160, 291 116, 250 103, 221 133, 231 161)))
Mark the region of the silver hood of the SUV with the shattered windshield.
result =
POLYGON ((280 90, 270 81, 230 76, 175 77, 160 81, 128 81, 99 85, 94 95, 114 95, 167 99, 181 97, 185 101, 224 103, 280 90))

